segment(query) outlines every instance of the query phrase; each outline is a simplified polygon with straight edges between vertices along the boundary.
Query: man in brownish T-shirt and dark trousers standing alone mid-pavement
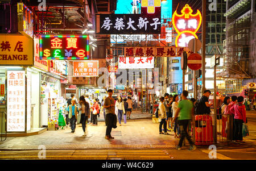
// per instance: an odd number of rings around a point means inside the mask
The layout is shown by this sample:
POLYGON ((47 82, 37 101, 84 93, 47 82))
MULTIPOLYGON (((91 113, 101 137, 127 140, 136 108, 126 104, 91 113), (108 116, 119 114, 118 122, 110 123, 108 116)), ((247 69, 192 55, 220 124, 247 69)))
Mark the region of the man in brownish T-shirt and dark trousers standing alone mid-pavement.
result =
POLYGON ((114 126, 114 116, 115 116, 115 101, 112 97, 113 90, 108 90, 108 97, 105 99, 104 102, 104 109, 106 112, 106 135, 105 139, 114 139, 114 137, 111 136, 111 131, 114 126))

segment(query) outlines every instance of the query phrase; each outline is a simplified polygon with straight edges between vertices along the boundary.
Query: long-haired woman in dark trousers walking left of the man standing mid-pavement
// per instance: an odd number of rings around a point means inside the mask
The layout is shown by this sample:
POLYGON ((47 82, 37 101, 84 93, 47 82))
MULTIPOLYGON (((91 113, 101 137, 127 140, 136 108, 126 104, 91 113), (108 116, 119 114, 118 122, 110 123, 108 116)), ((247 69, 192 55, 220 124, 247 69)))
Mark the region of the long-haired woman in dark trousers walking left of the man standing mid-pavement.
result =
POLYGON ((82 131, 84 131, 83 136, 86 136, 86 121, 88 120, 88 117, 90 117, 90 106, 89 103, 85 101, 83 95, 79 98, 79 100, 81 104, 81 108, 79 108, 79 110, 81 111, 82 131))

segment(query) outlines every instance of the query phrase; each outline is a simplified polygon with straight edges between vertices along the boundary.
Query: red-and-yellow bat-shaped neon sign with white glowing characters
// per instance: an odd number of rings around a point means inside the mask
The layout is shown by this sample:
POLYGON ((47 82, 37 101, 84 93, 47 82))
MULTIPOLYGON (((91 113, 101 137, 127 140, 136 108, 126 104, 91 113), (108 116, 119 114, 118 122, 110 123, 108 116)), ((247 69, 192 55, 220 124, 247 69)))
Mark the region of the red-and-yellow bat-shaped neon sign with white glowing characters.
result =
POLYGON ((177 14, 177 10, 172 15, 172 25, 174 26, 177 37, 175 39, 176 47, 187 47, 189 40, 198 39, 196 32, 199 30, 202 22, 202 15, 199 10, 192 14, 193 10, 186 4, 177 14))

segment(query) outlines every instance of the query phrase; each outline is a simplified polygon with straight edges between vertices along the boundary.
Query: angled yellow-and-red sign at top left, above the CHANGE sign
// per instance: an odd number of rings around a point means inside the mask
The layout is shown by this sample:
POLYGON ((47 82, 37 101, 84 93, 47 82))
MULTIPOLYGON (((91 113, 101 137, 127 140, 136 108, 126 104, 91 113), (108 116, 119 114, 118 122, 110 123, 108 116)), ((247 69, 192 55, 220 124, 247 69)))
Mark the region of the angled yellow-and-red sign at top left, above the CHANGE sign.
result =
POLYGON ((23 3, 18 3, 18 31, 33 37, 33 12, 23 3))

